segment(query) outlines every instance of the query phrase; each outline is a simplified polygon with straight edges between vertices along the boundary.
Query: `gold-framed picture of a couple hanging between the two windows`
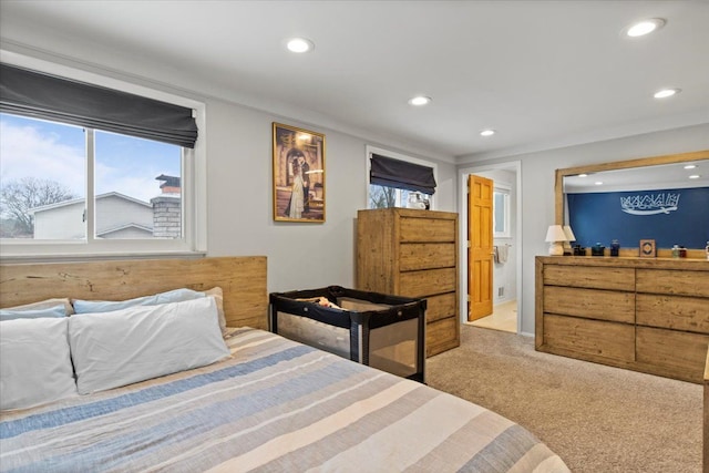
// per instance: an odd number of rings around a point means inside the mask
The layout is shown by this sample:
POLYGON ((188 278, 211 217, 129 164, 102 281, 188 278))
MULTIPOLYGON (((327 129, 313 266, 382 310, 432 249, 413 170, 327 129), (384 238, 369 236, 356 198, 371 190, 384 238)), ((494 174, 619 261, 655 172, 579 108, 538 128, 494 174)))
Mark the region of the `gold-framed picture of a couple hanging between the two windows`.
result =
POLYGON ((274 220, 325 222, 325 135, 274 123, 274 220))

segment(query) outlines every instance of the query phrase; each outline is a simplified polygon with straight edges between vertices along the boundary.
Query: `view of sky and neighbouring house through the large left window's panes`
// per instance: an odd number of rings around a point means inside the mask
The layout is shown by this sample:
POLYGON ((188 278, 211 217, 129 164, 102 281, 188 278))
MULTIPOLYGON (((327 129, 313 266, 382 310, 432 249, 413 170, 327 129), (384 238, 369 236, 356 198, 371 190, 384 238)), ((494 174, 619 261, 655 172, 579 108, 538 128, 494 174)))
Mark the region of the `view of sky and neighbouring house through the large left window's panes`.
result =
POLYGON ((181 146, 8 113, 0 126, 0 238, 182 237, 181 146))

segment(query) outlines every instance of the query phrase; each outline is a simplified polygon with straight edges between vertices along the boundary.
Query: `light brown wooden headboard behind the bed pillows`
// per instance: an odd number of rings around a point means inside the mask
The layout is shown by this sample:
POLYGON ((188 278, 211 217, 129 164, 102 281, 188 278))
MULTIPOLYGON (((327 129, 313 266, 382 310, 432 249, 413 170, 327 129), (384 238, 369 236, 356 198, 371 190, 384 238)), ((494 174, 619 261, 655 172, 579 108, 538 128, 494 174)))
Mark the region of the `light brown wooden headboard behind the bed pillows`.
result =
POLYGON ((119 259, 0 265, 0 307, 38 300, 123 300, 189 288, 224 291, 227 326, 268 329, 266 257, 119 259))

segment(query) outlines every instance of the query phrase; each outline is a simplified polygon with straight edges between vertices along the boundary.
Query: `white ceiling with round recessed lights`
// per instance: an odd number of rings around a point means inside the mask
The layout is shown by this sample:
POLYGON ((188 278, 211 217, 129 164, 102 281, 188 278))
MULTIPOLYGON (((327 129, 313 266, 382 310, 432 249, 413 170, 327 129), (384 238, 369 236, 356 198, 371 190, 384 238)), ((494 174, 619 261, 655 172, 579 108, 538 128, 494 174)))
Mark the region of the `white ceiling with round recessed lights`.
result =
POLYGON ((709 123, 706 0, 0 0, 0 35, 450 161, 709 123), (620 35, 644 18, 667 24, 620 35))

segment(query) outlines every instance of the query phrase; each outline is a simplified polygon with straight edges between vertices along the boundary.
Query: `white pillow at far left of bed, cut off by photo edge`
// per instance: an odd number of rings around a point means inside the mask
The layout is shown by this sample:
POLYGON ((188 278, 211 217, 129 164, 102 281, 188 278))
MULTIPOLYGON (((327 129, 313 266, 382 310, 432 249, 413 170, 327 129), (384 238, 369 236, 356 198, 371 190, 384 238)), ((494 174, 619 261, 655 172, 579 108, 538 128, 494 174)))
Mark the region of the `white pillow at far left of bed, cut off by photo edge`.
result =
POLYGON ((76 395, 69 319, 0 322, 0 409, 27 409, 76 395))

